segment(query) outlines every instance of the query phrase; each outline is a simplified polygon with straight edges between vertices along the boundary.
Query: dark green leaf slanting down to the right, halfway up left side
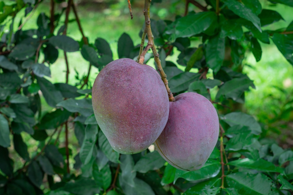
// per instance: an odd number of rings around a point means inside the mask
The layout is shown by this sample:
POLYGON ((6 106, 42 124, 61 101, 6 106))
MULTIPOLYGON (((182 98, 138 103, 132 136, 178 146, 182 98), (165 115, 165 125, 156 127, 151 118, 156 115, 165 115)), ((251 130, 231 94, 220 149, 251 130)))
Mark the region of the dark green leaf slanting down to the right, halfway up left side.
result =
POLYGON ((42 94, 49 106, 55 107, 57 103, 62 101, 61 92, 58 91, 50 81, 41 77, 37 77, 37 80, 42 94))

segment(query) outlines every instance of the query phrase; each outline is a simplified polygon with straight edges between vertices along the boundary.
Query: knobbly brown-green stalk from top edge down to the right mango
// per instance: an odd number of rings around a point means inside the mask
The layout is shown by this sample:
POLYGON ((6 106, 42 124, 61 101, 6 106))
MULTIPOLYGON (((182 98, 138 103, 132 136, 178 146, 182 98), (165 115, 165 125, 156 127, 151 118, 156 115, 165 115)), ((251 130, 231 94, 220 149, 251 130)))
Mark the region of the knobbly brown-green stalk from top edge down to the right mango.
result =
MULTIPOLYGON (((151 5, 151 0, 144 0, 144 20, 145 20, 145 27, 144 31, 147 32, 148 36, 148 45, 151 45, 151 50, 153 51, 155 62, 157 63, 158 71, 161 75, 161 78, 165 84, 165 87, 168 92, 168 97, 169 101, 175 101, 175 98, 173 97, 173 94, 168 86, 168 80, 167 80, 167 75, 165 74, 162 65, 161 65, 161 60, 159 58, 159 54, 156 50, 156 47, 154 46, 154 35, 151 32, 151 20, 149 18, 149 7, 151 5)), ((141 55, 140 55, 141 56, 141 55)), ((141 58, 141 57, 140 57, 141 58)))

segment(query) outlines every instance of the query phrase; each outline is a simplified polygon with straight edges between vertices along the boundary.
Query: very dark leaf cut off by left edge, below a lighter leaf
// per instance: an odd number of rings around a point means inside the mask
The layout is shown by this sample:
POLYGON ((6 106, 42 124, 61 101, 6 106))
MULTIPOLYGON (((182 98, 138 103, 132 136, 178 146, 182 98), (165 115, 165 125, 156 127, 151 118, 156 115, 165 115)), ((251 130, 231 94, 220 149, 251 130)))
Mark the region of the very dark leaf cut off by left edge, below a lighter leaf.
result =
POLYGON ((13 174, 13 161, 9 158, 8 149, 0 146, 0 170, 8 177, 13 174))

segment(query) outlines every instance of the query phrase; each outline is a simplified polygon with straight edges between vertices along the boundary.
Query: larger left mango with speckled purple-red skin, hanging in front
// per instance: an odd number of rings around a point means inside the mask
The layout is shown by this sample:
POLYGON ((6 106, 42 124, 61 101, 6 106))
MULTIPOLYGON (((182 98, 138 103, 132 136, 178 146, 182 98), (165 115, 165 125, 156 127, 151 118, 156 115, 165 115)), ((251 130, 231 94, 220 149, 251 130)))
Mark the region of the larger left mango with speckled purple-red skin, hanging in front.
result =
POLYGON ((93 111, 112 148, 122 154, 147 149, 163 131, 169 114, 166 87, 156 70, 122 58, 96 77, 93 111))

